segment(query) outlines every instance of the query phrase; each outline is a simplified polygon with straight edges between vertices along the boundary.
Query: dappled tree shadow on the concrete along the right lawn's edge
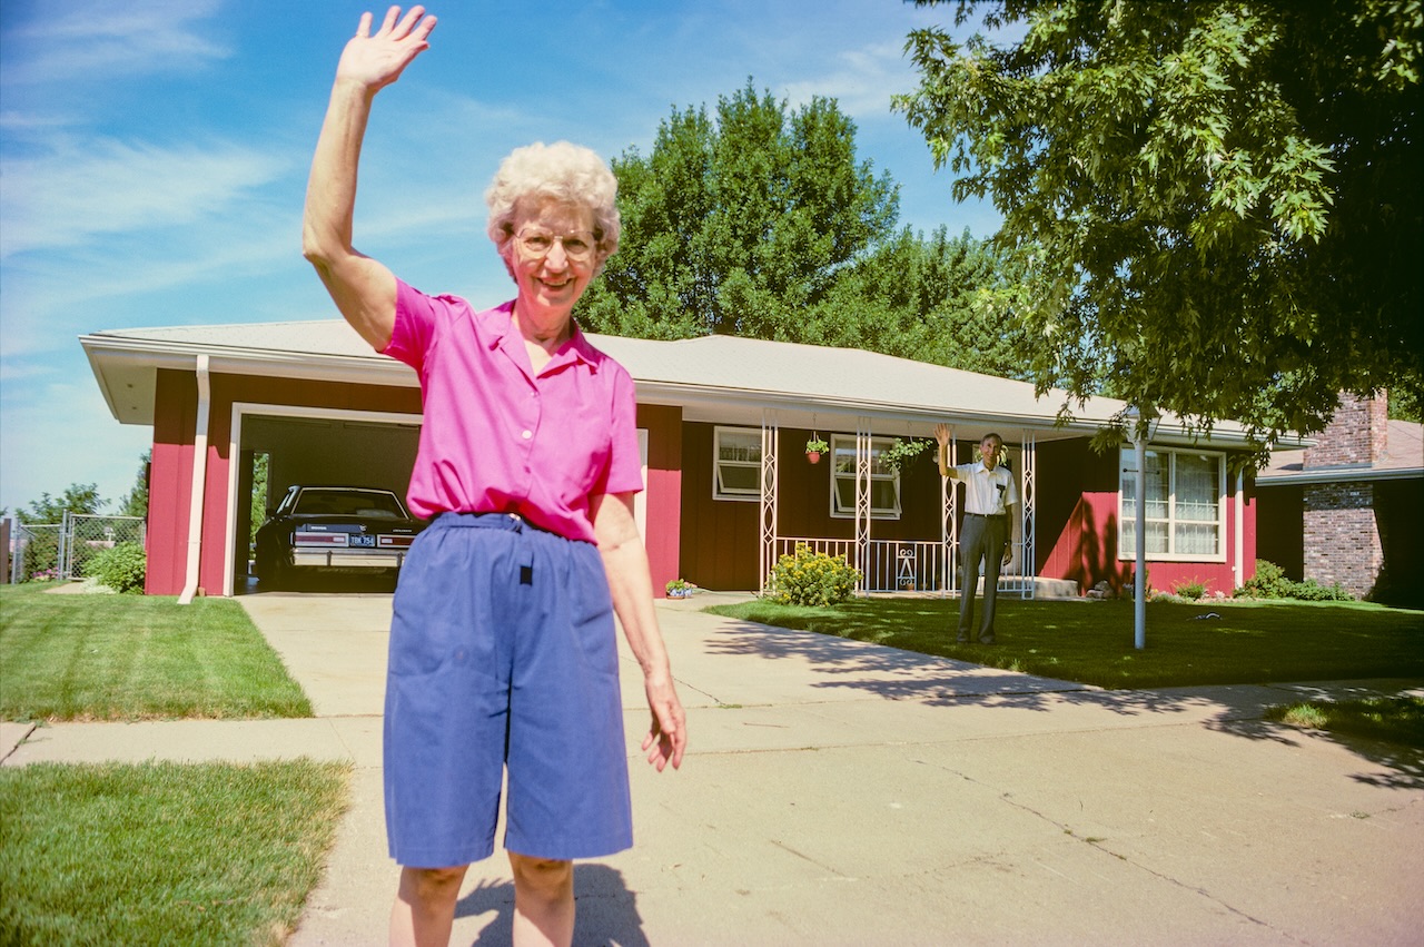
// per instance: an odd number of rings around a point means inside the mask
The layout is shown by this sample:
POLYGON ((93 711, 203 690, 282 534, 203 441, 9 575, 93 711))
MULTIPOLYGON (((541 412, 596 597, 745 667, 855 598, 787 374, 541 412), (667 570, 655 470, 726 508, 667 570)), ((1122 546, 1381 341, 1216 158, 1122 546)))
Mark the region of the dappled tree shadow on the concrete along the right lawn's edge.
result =
MULTIPOLYGON (((1424 752, 1337 733, 1302 732, 1263 719, 1263 711, 1277 703, 1299 702, 1324 694, 1337 699, 1388 692, 1387 681, 1370 684, 1223 684, 1153 689, 1104 689, 973 661, 927 655, 889 645, 870 644, 833 634, 725 619, 709 639, 712 654, 759 656, 768 661, 796 659, 820 678, 816 689, 853 689, 889 701, 914 701, 927 706, 1001 706, 1051 712, 1065 706, 1092 706, 1124 716, 1179 716, 1202 726, 1253 741, 1302 746, 1309 739, 1327 739, 1381 768, 1353 779, 1394 789, 1424 788, 1424 752)), ((948 632, 947 632, 948 634, 948 632)), ((968 651, 995 656, 997 645, 970 645, 968 651)), ((1398 682, 1404 684, 1404 682, 1398 682)), ((1163 721, 1171 722, 1171 721, 1163 721)))

